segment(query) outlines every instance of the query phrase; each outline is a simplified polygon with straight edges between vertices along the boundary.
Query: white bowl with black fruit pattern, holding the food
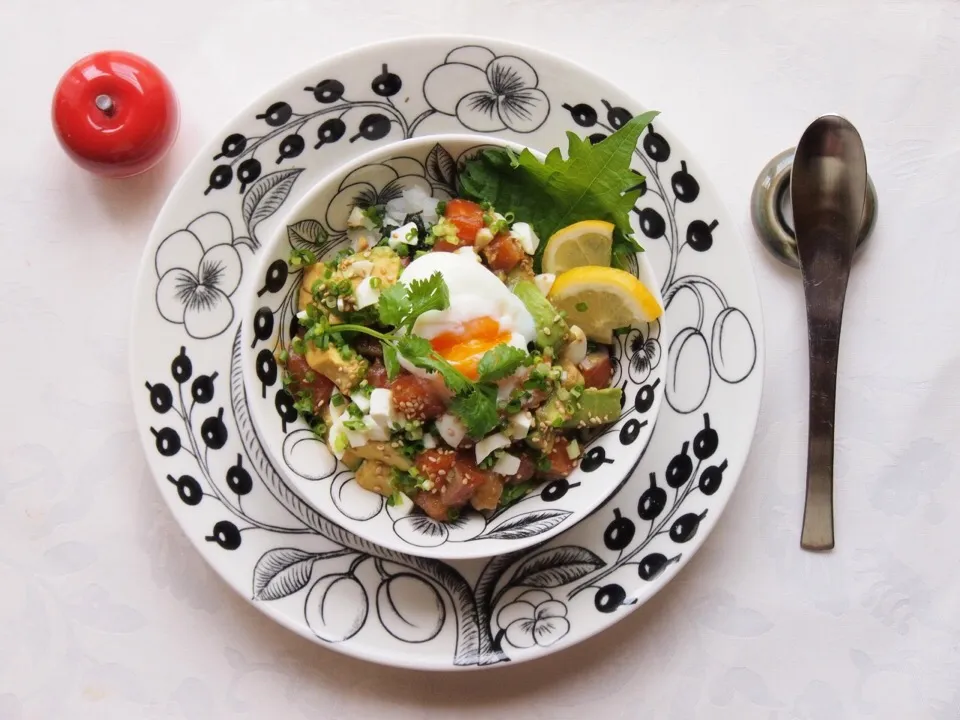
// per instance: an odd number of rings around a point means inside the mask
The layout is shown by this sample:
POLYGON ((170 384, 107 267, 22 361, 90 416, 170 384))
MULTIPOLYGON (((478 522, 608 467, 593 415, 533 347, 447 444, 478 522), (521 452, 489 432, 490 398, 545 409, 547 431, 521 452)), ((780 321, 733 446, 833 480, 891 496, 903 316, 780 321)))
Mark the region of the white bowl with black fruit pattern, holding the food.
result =
MULTIPOLYGON (((288 270, 291 247, 309 244, 319 258, 336 254, 348 245, 346 218, 358 199, 363 204, 377 196, 382 202, 385 193, 417 185, 436 197, 455 194, 457 168, 466 157, 491 146, 520 147, 489 136, 427 136, 385 146, 337 169, 307 192, 259 249, 258 279, 241 305, 244 382, 257 432, 275 466, 306 502, 338 525, 383 547, 424 557, 466 559, 514 552, 587 517, 636 468, 663 397, 653 389, 664 381, 668 363, 650 362, 653 355, 659 360, 666 352, 659 342, 661 318, 616 339, 613 384, 624 391, 623 411, 590 442, 569 478, 543 482, 507 508, 469 510, 452 523, 431 520, 406 499, 388 506, 383 497, 361 488, 353 472, 296 416, 274 360, 275 350, 292 339, 297 312, 302 271, 288 270), (316 242, 320 229, 326 239, 316 242), (613 447, 617 451, 608 453, 613 447)), ((648 288, 660 287, 643 253, 637 255, 636 273, 648 288)))

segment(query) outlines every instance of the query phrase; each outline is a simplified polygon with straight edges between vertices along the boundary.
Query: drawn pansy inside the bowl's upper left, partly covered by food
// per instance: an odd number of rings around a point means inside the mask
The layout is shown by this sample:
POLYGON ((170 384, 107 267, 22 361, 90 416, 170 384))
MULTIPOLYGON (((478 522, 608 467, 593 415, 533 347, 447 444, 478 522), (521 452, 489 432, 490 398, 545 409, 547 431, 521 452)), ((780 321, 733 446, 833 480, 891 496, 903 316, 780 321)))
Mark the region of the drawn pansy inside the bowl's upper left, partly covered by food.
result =
POLYGON ((426 169, 413 158, 390 158, 359 167, 343 179, 340 190, 327 206, 327 226, 334 232, 343 232, 354 206, 386 205, 399 198, 404 190, 415 187, 428 196, 434 193, 426 178, 426 169))

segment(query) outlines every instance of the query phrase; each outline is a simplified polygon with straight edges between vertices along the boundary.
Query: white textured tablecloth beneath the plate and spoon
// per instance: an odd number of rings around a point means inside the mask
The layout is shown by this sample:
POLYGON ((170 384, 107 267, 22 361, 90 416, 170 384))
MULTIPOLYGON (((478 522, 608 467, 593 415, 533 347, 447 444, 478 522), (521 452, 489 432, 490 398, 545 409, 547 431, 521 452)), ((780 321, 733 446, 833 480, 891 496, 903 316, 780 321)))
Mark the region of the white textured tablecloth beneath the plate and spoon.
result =
POLYGON ((960 717, 960 4, 7 0, 4 16, 0 719, 960 717), (146 470, 127 324, 153 217, 202 142, 329 54, 442 32, 536 44, 664 112, 742 225, 768 364, 740 486, 666 590, 545 660, 424 676, 295 637, 201 561, 146 470), (130 181, 71 166, 48 120, 59 75, 107 48, 160 65, 183 109, 169 160, 130 181), (881 218, 845 316, 838 548, 811 555, 802 292, 747 207, 828 111, 864 137, 881 218))

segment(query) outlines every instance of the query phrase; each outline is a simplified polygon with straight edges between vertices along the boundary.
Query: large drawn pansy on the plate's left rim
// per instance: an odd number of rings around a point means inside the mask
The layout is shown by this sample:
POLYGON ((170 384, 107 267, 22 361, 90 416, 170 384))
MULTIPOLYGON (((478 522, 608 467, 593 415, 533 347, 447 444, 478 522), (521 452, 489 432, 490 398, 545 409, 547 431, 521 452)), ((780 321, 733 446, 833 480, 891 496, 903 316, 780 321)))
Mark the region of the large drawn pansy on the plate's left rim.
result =
POLYGON ((157 248, 157 310, 197 340, 212 338, 233 322, 230 296, 240 286, 243 263, 226 215, 209 212, 168 235, 157 248))

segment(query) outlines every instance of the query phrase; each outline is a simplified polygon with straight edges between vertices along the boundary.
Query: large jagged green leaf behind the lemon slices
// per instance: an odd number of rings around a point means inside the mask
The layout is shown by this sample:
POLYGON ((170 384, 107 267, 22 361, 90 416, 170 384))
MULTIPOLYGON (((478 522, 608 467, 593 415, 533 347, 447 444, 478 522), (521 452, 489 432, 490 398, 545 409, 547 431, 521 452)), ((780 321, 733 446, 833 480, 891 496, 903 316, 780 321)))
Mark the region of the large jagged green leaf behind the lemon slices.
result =
MULTIPOLYGON (((640 133, 657 116, 637 115, 592 145, 568 132, 567 159, 554 148, 541 162, 524 149, 488 149, 466 162, 460 181, 467 197, 510 210, 530 223, 541 238, 581 220, 606 220, 614 230, 614 255, 642 248, 633 237, 630 211, 640 197, 643 177, 630 169, 640 133)), ((546 243, 541 243, 540 256, 546 243)))

